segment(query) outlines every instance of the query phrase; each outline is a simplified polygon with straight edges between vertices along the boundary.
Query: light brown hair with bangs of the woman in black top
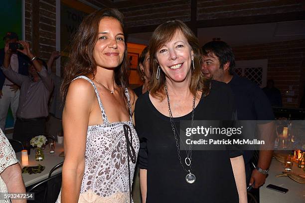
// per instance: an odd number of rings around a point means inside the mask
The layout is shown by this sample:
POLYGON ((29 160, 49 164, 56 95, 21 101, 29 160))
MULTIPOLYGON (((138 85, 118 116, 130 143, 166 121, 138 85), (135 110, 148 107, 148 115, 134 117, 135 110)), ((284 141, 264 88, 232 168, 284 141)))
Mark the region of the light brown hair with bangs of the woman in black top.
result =
POLYGON ((160 24, 152 33, 150 40, 150 57, 151 57, 151 68, 152 78, 150 80, 150 93, 153 97, 163 100, 165 97, 164 85, 165 85, 165 74, 160 70, 159 79, 156 79, 156 73, 158 63, 156 60, 157 51, 168 41, 170 41, 177 31, 181 33, 187 39, 187 42, 191 46, 194 52, 194 67, 191 67, 191 82, 189 84, 189 90, 193 95, 197 94, 198 90, 202 91, 203 95, 208 95, 210 81, 203 77, 201 71, 201 52, 199 47, 198 38, 194 35, 192 30, 180 20, 171 20, 160 24))

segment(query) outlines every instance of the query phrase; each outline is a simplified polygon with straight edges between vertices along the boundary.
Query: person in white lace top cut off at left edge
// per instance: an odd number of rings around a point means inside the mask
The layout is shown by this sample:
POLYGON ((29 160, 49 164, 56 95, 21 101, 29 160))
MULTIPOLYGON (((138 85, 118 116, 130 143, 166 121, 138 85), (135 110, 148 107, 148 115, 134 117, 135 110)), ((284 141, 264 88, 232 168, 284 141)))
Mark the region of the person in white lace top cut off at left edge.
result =
MULTIPOLYGON (((0 129, 0 193, 25 193, 21 168, 7 138, 0 129)), ((10 203, 0 199, 0 203, 10 203)), ((12 200, 11 203, 26 203, 26 200, 12 200)))

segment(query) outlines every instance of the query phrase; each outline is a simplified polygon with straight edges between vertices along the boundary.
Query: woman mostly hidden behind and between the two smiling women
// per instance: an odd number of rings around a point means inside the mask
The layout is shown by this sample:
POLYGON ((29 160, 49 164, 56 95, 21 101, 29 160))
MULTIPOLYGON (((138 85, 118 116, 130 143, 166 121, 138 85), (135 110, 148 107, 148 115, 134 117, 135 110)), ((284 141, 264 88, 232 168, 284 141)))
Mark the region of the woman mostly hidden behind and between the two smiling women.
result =
POLYGON ((150 69, 150 53, 149 47, 145 47, 139 57, 138 72, 143 81, 143 85, 134 89, 134 92, 138 97, 148 91, 149 82, 151 79, 151 69, 150 69))

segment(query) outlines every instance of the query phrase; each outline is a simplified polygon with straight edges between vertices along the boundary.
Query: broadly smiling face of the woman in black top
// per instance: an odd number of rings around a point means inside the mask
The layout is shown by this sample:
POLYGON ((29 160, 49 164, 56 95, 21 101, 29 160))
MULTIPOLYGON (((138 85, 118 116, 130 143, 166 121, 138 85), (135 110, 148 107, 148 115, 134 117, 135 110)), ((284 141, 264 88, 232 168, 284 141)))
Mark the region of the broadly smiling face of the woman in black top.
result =
POLYGON ((186 79, 190 81, 193 57, 192 48, 181 31, 177 31, 156 53, 157 62, 165 73, 166 80, 173 82, 183 82, 186 79))

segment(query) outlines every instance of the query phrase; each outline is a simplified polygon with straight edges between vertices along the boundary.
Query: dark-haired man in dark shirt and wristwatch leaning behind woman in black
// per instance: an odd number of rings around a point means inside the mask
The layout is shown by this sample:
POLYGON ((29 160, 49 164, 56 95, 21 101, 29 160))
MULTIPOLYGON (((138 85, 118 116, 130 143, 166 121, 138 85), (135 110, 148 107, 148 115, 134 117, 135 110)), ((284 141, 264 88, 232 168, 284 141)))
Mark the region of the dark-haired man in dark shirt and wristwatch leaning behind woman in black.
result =
MULTIPOLYGON (((230 85, 236 102, 238 120, 274 120, 268 98, 254 82, 233 72, 235 57, 232 48, 224 41, 210 41, 202 46, 203 72, 207 77, 230 85)), ((272 136, 271 134, 269 136, 272 136)), ((247 184, 253 188, 264 185, 268 174, 272 150, 259 151, 256 169, 250 163, 254 151, 244 151, 247 184)))

